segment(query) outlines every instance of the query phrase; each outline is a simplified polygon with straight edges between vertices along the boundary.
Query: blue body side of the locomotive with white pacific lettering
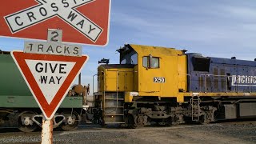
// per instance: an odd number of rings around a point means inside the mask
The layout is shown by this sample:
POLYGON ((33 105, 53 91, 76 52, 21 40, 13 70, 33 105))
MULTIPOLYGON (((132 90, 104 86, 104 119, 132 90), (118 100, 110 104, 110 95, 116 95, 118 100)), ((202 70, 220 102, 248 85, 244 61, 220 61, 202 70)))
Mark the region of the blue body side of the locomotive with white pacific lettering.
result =
POLYGON ((187 54, 188 86, 193 92, 256 91, 256 62, 187 54), (191 77, 191 78, 190 78, 191 77))

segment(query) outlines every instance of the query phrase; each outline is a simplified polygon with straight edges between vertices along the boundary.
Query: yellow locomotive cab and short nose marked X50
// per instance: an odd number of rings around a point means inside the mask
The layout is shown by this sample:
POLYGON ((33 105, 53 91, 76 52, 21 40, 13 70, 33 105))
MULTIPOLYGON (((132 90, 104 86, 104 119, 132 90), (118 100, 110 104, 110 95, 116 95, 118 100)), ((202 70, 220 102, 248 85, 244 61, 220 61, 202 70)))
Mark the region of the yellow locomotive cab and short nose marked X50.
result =
POLYGON ((98 67, 98 91, 126 92, 126 102, 134 96, 176 98, 179 92, 187 91, 186 55, 182 50, 125 45, 118 52, 120 64, 98 67))

